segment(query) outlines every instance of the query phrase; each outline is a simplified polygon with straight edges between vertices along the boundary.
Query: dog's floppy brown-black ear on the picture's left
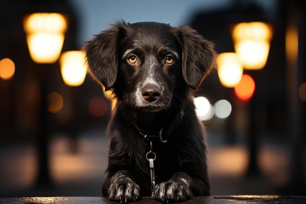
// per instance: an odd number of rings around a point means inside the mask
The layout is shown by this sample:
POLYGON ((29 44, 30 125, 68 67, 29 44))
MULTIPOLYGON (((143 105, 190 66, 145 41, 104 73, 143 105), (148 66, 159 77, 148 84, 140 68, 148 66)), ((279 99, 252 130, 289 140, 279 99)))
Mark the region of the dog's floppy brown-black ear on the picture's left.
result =
POLYGON ((83 47, 86 52, 88 73, 99 84, 110 90, 118 73, 118 45, 126 23, 124 21, 113 24, 111 28, 101 32, 87 42, 83 47))

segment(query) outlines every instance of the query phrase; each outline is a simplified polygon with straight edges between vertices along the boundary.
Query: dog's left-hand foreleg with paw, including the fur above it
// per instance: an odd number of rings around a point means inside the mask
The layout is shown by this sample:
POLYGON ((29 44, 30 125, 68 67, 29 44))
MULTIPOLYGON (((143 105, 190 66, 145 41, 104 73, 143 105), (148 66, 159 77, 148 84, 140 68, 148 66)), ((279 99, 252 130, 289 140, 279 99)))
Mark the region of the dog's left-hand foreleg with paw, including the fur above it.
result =
POLYGON ((139 186, 126 170, 118 171, 111 177, 108 197, 111 201, 127 203, 140 200, 139 186))

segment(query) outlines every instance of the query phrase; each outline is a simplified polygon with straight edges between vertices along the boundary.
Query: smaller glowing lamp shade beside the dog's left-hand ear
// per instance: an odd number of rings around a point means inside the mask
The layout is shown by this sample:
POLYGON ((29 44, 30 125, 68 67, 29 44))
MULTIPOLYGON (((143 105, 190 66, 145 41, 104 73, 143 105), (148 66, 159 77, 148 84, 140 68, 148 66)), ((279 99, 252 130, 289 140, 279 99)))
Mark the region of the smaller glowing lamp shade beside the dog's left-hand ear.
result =
POLYGON ((67 51, 60 58, 62 77, 68 86, 80 86, 86 77, 86 54, 83 51, 67 51))

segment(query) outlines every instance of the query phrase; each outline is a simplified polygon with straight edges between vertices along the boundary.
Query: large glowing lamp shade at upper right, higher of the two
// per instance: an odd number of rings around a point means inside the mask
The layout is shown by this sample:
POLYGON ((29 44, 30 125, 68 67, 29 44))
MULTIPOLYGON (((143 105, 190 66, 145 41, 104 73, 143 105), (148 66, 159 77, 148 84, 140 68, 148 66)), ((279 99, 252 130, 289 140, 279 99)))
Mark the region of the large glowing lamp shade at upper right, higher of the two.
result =
POLYGON ((262 69, 267 61, 272 27, 267 23, 238 23, 232 37, 235 51, 245 69, 262 69))

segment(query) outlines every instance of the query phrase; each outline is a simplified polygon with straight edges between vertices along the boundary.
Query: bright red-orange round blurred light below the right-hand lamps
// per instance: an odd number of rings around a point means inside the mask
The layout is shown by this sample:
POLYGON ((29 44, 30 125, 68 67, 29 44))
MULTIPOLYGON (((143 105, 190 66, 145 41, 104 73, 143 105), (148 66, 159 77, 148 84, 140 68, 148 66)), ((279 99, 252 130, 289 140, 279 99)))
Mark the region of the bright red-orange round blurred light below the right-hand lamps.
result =
POLYGON ((248 74, 243 74, 239 84, 235 87, 235 93, 243 101, 252 98, 255 91, 255 82, 248 74))

